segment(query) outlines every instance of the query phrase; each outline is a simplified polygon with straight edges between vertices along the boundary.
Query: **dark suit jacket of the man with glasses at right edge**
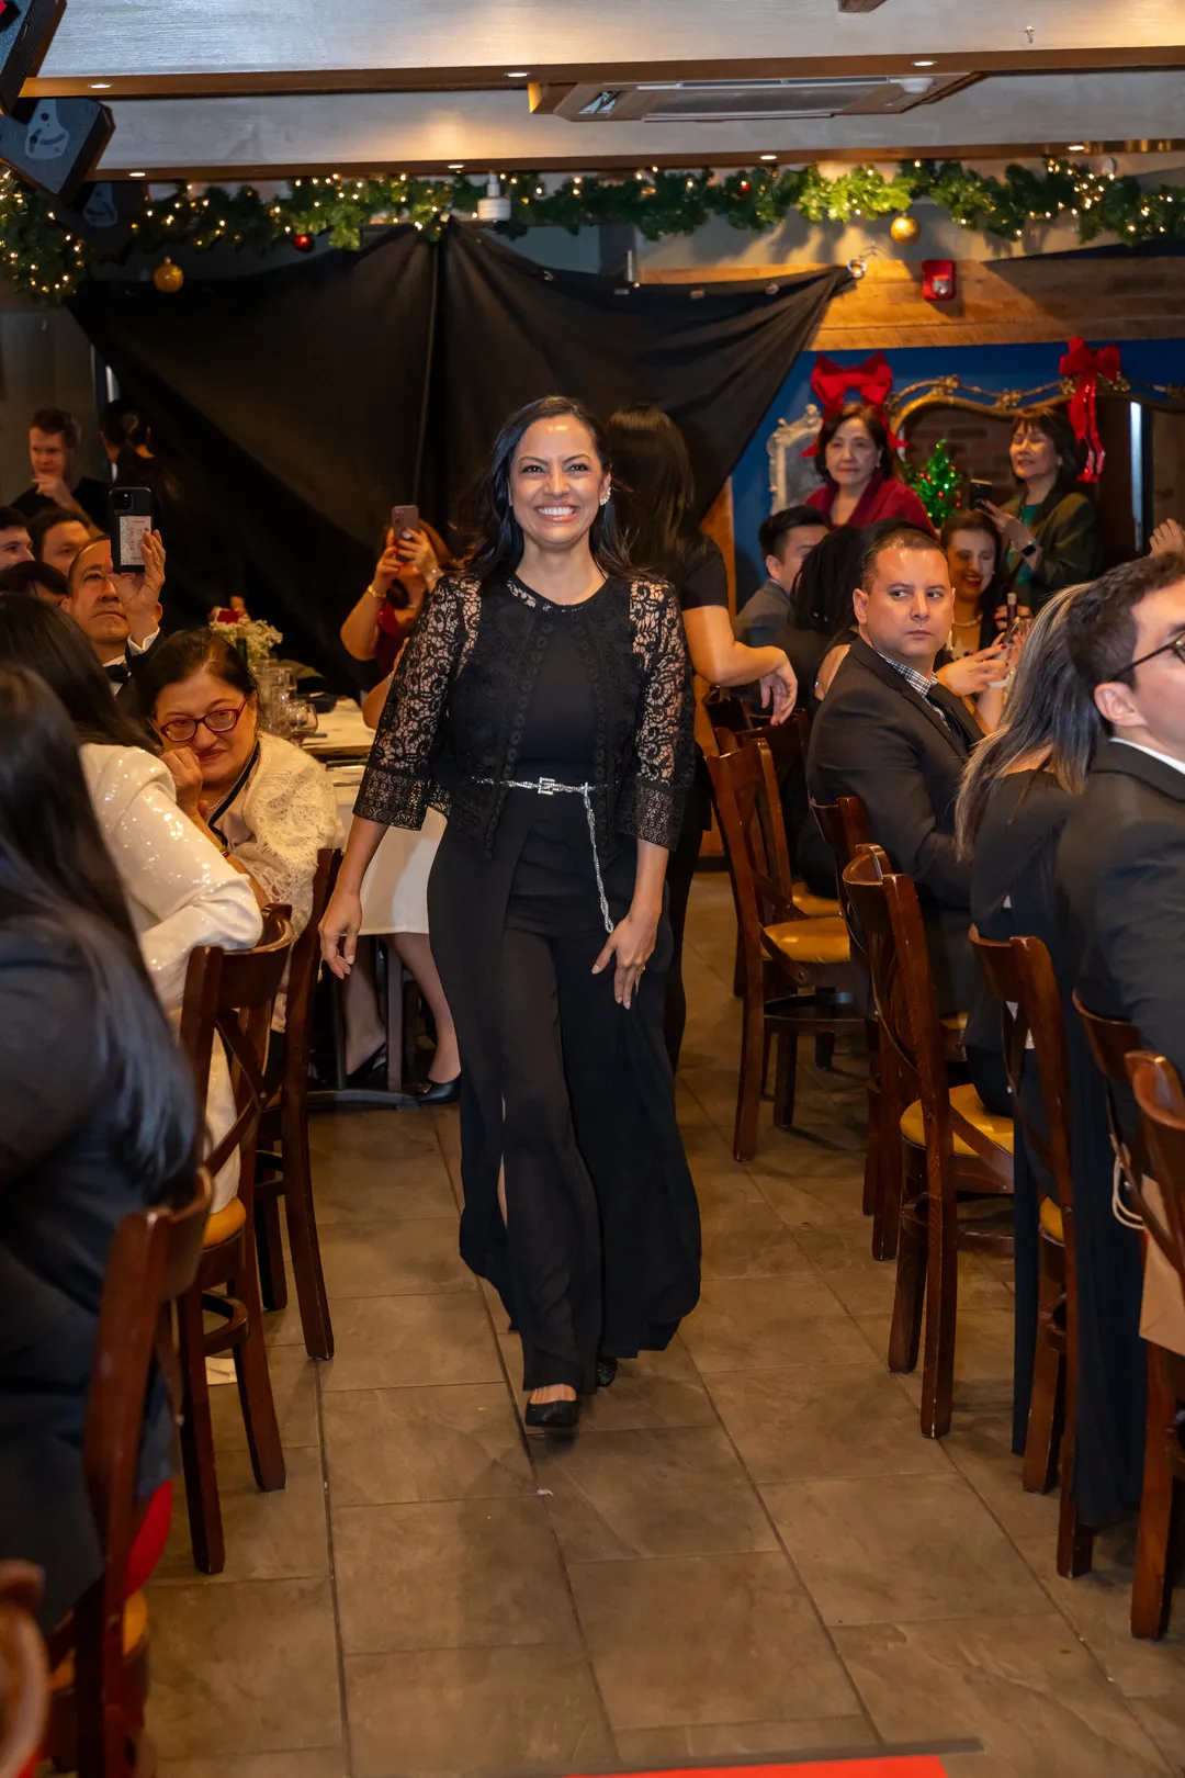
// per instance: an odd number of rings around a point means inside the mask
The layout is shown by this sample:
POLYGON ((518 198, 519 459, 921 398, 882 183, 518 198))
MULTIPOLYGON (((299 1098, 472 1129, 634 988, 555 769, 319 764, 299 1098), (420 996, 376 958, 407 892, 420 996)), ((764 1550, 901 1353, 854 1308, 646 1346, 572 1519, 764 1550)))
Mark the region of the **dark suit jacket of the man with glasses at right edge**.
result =
POLYGON ((1103 741, 1057 852, 1078 997, 1185 1077, 1185 770, 1103 741))

